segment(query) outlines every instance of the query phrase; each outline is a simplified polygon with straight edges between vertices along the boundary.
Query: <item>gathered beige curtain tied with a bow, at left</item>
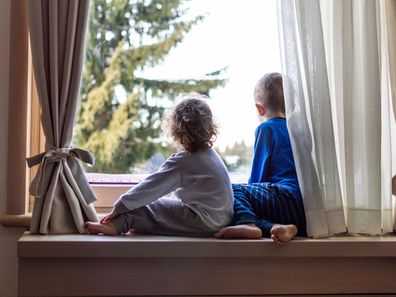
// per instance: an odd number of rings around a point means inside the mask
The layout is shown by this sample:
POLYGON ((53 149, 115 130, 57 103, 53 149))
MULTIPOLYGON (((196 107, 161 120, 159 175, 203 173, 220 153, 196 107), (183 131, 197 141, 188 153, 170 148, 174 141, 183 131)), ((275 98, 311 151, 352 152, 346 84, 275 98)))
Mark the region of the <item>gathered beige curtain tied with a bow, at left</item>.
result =
POLYGON ((71 145, 84 57, 89 0, 28 2, 33 67, 42 108, 46 151, 28 159, 39 165, 30 185, 35 196, 30 231, 84 233, 84 222, 98 221, 95 195, 77 159, 94 157, 71 145))

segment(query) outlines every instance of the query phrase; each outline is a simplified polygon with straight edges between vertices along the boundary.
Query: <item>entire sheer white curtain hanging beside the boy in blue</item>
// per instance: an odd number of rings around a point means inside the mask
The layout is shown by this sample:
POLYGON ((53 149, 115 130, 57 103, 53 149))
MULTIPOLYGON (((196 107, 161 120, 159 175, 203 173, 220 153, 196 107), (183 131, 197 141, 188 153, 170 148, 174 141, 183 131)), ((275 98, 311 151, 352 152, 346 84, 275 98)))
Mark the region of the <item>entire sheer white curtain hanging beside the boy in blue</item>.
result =
POLYGON ((307 231, 392 231, 384 3, 281 0, 286 112, 307 231))

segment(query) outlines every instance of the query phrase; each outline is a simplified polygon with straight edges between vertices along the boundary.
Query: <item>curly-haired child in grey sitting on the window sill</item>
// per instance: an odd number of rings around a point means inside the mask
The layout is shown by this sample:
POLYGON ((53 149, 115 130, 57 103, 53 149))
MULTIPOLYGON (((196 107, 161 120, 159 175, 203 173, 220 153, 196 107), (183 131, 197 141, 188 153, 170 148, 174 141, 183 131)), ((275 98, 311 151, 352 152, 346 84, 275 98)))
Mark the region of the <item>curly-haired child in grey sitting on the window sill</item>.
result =
POLYGON ((232 187, 212 148, 217 127, 208 104, 199 97, 185 99, 165 123, 182 149, 121 195, 100 223, 87 222, 89 233, 213 236, 231 222, 232 187), (174 197, 164 197, 171 192, 174 197))

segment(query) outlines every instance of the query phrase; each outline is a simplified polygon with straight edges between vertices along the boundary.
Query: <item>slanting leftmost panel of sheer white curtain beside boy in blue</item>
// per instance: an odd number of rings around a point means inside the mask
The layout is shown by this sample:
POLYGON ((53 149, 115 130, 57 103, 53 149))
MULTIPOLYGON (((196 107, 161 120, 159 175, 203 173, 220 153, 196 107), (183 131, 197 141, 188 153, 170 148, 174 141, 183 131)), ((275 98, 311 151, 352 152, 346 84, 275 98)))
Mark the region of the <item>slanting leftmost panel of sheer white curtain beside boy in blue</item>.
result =
POLYGON ((280 1, 287 124, 307 233, 345 232, 318 1, 280 1))

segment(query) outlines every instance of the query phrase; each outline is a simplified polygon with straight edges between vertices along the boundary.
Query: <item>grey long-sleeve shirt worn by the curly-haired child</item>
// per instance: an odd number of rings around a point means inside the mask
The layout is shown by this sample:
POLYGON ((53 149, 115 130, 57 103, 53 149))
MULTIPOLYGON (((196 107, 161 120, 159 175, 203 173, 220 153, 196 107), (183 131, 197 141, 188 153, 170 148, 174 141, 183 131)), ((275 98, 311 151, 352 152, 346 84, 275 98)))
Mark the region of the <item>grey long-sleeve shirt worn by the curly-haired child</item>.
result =
POLYGON ((214 231, 232 220, 230 178, 223 161, 212 148, 192 154, 186 151, 173 154, 156 173, 121 195, 115 208, 118 213, 125 213, 170 192, 214 231))

